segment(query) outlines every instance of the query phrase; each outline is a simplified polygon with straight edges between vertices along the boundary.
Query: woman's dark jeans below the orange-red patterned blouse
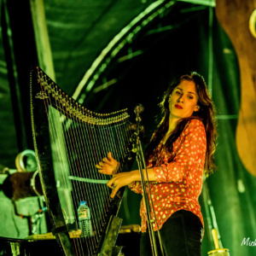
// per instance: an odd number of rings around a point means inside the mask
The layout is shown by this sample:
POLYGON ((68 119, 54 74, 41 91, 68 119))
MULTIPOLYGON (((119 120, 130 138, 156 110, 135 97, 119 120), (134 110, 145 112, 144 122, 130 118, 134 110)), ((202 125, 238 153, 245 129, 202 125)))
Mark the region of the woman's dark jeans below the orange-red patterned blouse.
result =
MULTIPOLYGON (((166 256, 200 256, 202 224, 193 212, 180 210, 174 212, 160 229, 160 237, 166 256)), ((161 256, 157 232, 154 232, 161 256)), ((140 243, 140 255, 151 256, 152 249, 148 232, 143 233, 140 243)))

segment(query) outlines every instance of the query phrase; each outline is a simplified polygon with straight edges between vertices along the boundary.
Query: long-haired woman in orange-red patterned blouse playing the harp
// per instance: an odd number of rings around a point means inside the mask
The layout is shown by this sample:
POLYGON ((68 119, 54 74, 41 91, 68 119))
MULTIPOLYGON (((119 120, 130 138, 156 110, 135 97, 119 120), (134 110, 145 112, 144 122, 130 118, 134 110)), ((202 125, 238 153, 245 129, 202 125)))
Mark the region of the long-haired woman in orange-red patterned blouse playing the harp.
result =
MULTIPOLYGON (((145 157, 156 220, 153 228, 160 230, 166 255, 201 255, 203 219, 198 197, 203 173, 209 175, 215 167, 214 106, 204 79, 192 72, 172 83, 161 107, 164 117, 145 157)), ((96 166, 101 173, 113 174, 108 182, 113 188, 111 196, 125 185, 142 193, 138 170, 117 173, 118 166, 111 153, 96 166)), ((141 255, 152 255, 143 201, 140 215, 141 255)))

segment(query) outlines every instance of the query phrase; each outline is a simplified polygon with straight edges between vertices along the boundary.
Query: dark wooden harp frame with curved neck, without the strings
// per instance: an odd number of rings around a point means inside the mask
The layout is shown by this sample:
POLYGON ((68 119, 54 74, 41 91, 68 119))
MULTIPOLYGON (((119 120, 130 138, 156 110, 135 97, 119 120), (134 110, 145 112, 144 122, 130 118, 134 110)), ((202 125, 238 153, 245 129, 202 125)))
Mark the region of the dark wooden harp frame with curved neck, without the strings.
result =
MULTIPOLYGON (((129 170, 134 160, 134 155, 131 156, 131 148, 128 145, 128 141, 130 141, 131 124, 128 120, 129 114, 127 113, 127 109, 108 114, 93 113, 67 96, 54 81, 49 79, 47 74, 45 74, 40 67, 36 67, 31 71, 30 90, 32 133, 38 160, 39 176, 44 191, 45 203, 49 211, 49 218, 53 226, 52 232, 61 245, 61 251, 66 255, 112 255, 111 251, 113 250, 121 224, 121 220, 119 220, 116 215, 122 200, 124 188, 119 189, 118 194, 113 200, 109 197, 111 191, 108 192, 108 214, 105 214, 104 219, 101 220, 101 230, 97 230, 99 236, 97 236, 96 241, 92 241, 95 247, 89 250, 86 245, 83 244, 84 238, 70 238, 69 231, 76 230, 78 222, 74 221, 72 223, 71 221, 67 221, 65 214, 63 214, 58 190, 56 189, 50 139, 51 131, 49 131, 49 106, 47 106, 45 102, 46 100, 51 100, 50 108, 57 110, 58 113, 61 114, 62 122, 64 117, 64 119, 70 122, 75 122, 77 121, 76 119, 78 119, 79 122, 85 122, 89 126, 92 125, 93 128, 95 125, 104 128, 106 125, 117 127, 120 124, 124 124, 125 134, 121 139, 126 141, 127 147, 123 145, 124 151, 121 152, 119 159, 117 159, 122 163, 121 169, 123 171, 129 170), (110 237, 112 237, 112 240, 110 237), (79 244, 82 247, 81 252, 78 250, 79 244)), ((83 177, 81 178, 83 179, 83 177)), ((106 185, 104 184, 104 186, 106 185)), ((93 210, 93 207, 91 210, 93 210)), ((76 209, 73 208, 73 211, 75 212, 76 209)), ((101 213, 100 215, 102 216, 101 213)), ((99 226, 98 224, 96 229, 99 229, 99 226)), ((85 238, 85 240, 95 240, 94 236, 92 238, 85 238)))

